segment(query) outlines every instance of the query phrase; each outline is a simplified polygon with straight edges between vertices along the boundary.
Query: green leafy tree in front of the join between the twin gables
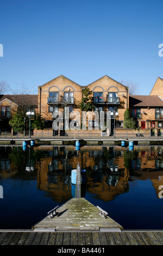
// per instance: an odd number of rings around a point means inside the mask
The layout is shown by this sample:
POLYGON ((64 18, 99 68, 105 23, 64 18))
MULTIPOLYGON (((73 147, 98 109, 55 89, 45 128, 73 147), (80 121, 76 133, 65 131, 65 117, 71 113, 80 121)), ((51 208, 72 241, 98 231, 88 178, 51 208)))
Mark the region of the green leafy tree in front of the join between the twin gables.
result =
POLYGON ((89 88, 83 88, 82 89, 83 98, 82 101, 79 102, 78 107, 82 111, 92 111, 94 104, 92 101, 92 91, 89 88))

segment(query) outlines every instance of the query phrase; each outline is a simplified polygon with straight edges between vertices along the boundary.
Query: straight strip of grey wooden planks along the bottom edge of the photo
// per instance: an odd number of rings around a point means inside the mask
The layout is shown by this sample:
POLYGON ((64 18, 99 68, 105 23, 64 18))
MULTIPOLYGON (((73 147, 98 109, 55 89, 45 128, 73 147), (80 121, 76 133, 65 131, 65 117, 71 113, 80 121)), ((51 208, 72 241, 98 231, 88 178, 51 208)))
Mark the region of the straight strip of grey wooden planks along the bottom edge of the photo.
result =
MULTIPOLYGON (((0 245, 163 245, 163 231, 35 232, 1 231, 0 245)), ((71 248, 71 247, 70 247, 71 248)))

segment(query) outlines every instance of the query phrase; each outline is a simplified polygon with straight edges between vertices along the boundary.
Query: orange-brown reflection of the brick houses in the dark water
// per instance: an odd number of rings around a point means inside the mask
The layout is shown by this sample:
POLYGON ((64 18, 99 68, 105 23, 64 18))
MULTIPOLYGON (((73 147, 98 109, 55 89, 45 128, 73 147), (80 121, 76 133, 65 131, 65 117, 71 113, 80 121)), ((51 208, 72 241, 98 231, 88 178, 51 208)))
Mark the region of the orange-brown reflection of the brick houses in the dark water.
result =
POLYGON ((86 170, 82 196, 89 193, 104 202, 129 192, 135 179, 151 180, 156 196, 163 184, 163 147, 135 146, 134 150, 118 146, 40 146, 0 147, 1 178, 37 179, 37 188, 47 197, 63 203, 74 196, 71 170, 86 170), (26 170, 26 172, 24 172, 26 170), (21 175, 20 175, 21 174, 21 175))

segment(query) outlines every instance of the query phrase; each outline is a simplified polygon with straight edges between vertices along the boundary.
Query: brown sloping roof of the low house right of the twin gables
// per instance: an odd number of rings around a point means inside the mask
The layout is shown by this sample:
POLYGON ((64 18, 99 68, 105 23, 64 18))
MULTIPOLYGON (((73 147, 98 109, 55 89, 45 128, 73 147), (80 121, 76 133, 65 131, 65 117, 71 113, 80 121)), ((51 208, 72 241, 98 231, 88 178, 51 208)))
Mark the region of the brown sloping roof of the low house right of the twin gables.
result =
POLYGON ((130 107, 163 107, 163 100, 154 95, 131 95, 129 96, 130 107))

